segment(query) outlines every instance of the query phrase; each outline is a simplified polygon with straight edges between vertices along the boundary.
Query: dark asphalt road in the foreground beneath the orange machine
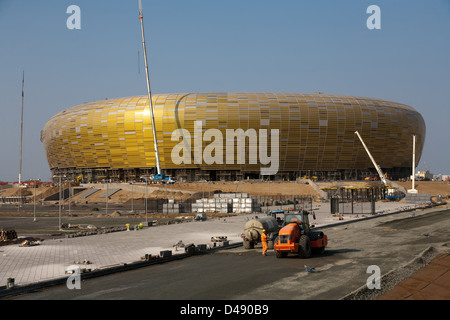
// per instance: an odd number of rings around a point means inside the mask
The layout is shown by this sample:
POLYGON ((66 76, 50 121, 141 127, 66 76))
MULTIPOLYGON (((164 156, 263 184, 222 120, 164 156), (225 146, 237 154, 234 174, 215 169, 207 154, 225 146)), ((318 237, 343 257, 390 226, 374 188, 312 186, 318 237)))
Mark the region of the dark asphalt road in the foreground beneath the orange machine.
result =
POLYGON ((369 266, 384 275, 430 246, 445 248, 448 230, 450 210, 405 212, 325 228, 329 246, 310 259, 239 247, 83 280, 81 289, 60 285, 8 299, 337 300, 366 284, 369 266))

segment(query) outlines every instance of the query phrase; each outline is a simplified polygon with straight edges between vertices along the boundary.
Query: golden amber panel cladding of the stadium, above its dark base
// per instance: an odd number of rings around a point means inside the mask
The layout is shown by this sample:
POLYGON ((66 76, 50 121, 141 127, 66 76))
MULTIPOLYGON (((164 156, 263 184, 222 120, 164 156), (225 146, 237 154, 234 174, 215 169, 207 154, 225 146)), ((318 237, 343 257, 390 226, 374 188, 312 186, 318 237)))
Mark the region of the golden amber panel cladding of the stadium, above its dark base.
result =
MULTIPOLYGON (((153 95, 153 106, 163 170, 259 171, 259 164, 249 163, 174 164, 171 155, 178 141, 173 141, 172 133, 186 129, 194 137, 198 120, 203 131, 218 129, 224 137, 226 129, 279 129, 280 173, 373 168, 356 130, 380 167, 406 172, 411 168, 412 135, 416 135, 417 163, 425 140, 425 123, 416 110, 373 98, 322 93, 185 93, 153 95)), ((155 167, 147 96, 66 109, 47 122, 41 141, 52 171, 155 167)), ((203 148, 208 143, 203 141, 203 148)))

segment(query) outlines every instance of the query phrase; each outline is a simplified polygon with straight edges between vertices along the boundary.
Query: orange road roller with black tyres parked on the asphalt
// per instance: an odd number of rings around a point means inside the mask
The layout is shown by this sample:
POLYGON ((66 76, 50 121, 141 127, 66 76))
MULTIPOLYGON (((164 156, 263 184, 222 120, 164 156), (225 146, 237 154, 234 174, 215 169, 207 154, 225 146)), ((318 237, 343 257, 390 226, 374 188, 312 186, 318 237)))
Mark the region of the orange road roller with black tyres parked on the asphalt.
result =
MULTIPOLYGON (((277 258, 285 258, 289 253, 300 258, 309 258, 313 251, 325 251, 328 244, 327 235, 322 231, 311 230, 309 215, 310 212, 306 210, 285 213, 282 228, 274 242, 277 258)), ((315 214, 312 215, 315 219, 315 214)))

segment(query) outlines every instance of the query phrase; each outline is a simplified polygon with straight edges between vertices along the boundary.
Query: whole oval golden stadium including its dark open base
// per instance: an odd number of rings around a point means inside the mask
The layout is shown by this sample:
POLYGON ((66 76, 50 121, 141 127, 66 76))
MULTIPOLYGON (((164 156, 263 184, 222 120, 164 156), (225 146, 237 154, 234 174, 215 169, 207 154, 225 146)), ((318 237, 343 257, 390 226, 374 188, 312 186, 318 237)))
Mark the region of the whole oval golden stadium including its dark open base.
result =
MULTIPOLYGON (((390 179, 420 161, 425 123, 412 107, 323 93, 153 95, 163 173, 185 181, 361 180, 377 175, 358 139, 390 179)), ((136 181, 155 173, 147 96, 63 110, 41 131, 52 174, 86 182, 136 181)))

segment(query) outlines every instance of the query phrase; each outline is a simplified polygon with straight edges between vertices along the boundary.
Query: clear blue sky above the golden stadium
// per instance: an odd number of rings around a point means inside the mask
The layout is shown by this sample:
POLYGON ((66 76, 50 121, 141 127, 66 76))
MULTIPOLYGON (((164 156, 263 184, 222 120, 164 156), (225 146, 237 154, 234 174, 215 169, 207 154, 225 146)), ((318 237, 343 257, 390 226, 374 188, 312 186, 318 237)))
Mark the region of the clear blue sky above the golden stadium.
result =
MULTIPOLYGON (((450 0, 142 2, 154 94, 393 100, 425 120, 418 169, 450 174, 450 0), (366 26, 370 5, 381 9, 380 30, 366 26)), ((50 180, 39 135, 53 115, 146 94, 138 1, 0 0, 0 181, 18 180, 23 71, 22 175, 50 180), (70 5, 81 9, 80 30, 66 26, 70 5)))

